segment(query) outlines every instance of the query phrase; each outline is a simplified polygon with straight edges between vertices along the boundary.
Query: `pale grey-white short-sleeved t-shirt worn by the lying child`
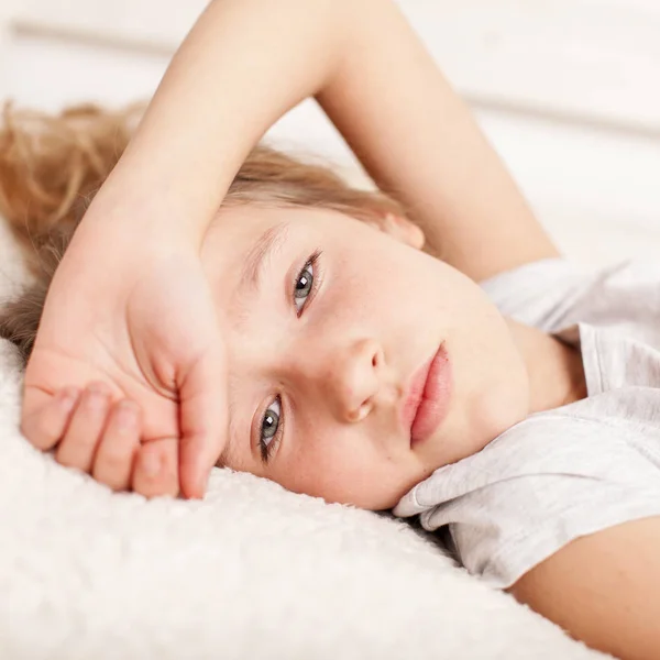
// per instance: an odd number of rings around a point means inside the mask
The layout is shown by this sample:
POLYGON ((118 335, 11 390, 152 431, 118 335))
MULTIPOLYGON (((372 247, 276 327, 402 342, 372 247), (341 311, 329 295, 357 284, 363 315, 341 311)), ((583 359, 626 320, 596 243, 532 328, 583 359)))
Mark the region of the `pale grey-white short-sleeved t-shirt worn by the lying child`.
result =
POLYGON ((543 260, 482 287, 503 315, 581 348, 587 398, 440 468, 394 513, 449 532, 471 573, 506 588, 580 536, 660 515, 660 262, 543 260))

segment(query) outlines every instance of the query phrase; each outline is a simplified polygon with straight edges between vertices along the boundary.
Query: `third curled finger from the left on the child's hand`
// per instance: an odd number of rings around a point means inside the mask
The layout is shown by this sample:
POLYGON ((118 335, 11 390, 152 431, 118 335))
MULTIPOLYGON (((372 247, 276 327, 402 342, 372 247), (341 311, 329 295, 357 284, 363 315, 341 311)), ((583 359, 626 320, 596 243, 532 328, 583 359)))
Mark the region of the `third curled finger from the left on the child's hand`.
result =
POLYGON ((94 479, 113 491, 128 491, 131 487, 140 431, 140 406, 128 399, 116 404, 94 457, 94 479))

